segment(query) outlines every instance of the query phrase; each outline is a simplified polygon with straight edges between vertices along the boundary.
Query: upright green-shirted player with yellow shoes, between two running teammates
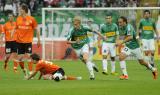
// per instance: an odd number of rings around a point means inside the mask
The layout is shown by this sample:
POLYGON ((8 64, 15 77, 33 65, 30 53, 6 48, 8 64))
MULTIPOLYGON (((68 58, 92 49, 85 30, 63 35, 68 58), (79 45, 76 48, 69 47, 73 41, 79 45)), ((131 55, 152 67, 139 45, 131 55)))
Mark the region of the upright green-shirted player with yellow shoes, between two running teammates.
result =
MULTIPOLYGON (((116 46, 115 43, 119 39, 119 32, 118 26, 112 22, 112 15, 107 14, 106 23, 101 26, 101 34, 107 38, 107 40, 103 40, 102 42, 102 67, 103 67, 103 74, 108 75, 108 62, 107 56, 110 54, 111 58, 111 74, 117 75, 115 71, 115 57, 116 57, 116 46)), ((100 40, 98 41, 98 46, 100 47, 100 40)))

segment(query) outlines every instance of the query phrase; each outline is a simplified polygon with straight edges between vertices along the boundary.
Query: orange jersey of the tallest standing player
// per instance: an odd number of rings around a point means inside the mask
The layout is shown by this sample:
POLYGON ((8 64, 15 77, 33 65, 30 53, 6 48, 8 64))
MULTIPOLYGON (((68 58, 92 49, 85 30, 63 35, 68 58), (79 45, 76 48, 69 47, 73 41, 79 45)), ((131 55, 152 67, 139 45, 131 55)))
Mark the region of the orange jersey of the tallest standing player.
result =
POLYGON ((34 30, 37 22, 32 16, 17 17, 16 20, 17 42, 31 43, 33 41, 34 30))

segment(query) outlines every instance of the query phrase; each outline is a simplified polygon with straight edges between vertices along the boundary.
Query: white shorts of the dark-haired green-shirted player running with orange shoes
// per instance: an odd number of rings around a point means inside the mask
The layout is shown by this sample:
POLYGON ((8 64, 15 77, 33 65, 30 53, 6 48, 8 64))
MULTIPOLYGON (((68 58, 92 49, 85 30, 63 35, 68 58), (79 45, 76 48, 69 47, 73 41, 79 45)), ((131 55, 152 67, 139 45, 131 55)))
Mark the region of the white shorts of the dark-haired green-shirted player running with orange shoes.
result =
POLYGON ((133 55, 137 59, 143 59, 143 53, 141 48, 129 49, 128 47, 124 47, 121 52, 125 53, 127 56, 133 55))

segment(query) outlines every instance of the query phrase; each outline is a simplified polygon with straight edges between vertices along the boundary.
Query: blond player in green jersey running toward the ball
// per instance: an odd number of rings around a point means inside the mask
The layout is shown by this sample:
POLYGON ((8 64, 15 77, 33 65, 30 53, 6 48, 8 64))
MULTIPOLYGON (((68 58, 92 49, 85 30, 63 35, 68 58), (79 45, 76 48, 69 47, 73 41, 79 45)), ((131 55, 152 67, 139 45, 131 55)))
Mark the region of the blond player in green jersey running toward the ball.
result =
MULTIPOLYGON (((67 40, 68 43, 74 48, 77 56, 86 64, 90 73, 90 80, 94 80, 93 63, 89 60, 89 39, 87 32, 94 30, 81 24, 81 17, 75 16, 73 18, 73 27, 70 29, 67 40)), ((99 36, 103 37, 100 33, 94 31, 99 36)))

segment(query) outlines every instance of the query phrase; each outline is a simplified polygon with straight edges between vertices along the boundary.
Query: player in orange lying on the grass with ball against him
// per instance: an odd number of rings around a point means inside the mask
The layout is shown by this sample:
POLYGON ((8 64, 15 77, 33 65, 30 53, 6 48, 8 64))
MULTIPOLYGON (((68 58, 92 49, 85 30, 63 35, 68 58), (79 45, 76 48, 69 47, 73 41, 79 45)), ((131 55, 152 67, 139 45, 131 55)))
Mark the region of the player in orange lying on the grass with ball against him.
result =
POLYGON ((39 80, 41 79, 42 76, 44 79, 50 79, 55 81, 81 80, 81 77, 66 76, 64 70, 60 66, 52 62, 40 59, 40 56, 38 54, 32 54, 30 57, 32 62, 36 64, 36 67, 34 72, 27 78, 27 80, 34 77, 38 71, 41 73, 38 78, 39 80))

